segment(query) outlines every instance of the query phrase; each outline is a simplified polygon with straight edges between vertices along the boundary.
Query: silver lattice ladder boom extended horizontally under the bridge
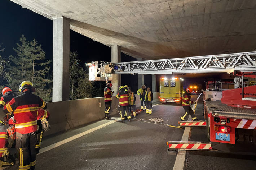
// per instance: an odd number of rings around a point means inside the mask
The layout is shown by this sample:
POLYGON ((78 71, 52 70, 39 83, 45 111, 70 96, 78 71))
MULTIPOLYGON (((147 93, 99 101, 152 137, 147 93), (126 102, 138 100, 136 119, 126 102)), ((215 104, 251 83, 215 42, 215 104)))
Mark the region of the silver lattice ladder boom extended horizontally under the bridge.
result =
POLYGON ((256 52, 114 63, 115 74, 172 74, 256 71, 256 52))

